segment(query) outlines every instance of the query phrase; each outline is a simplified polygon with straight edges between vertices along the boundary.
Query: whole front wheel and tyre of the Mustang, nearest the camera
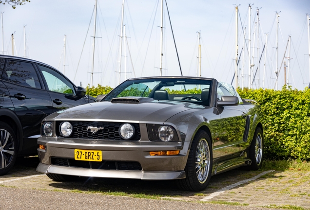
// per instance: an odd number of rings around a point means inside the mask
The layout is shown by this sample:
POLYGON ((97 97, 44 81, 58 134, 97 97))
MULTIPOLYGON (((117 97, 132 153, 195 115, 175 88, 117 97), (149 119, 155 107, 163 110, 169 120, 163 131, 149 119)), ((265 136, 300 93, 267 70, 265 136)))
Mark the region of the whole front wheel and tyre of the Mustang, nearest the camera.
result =
POLYGON ((185 166, 186 178, 177 180, 178 187, 186 191, 205 190, 210 182, 213 166, 212 144, 209 135, 198 130, 185 166))

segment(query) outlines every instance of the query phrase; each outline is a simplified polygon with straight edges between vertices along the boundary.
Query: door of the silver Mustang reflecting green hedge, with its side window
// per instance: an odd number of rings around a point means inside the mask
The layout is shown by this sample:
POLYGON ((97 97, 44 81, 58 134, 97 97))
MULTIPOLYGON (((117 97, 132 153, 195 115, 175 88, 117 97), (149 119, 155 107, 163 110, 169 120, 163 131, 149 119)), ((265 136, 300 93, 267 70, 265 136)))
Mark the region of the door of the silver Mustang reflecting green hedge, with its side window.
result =
MULTIPOLYGON (((218 83, 217 100, 222 96, 236 96, 231 85, 218 83)), ((239 100, 240 102, 241 100, 239 100)), ((214 142, 215 154, 230 158, 244 150, 243 135, 246 125, 246 109, 242 105, 217 106, 221 117, 221 133, 214 142)))

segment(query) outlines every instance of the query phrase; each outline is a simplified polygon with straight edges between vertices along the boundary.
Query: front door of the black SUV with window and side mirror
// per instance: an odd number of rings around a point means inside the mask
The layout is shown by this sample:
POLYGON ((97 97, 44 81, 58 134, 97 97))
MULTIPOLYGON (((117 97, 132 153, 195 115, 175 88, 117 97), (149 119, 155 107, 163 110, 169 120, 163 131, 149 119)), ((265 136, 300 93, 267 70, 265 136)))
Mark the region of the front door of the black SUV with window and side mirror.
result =
POLYGON ((45 88, 52 99, 54 111, 86 104, 84 98, 77 97, 75 86, 57 70, 38 64, 45 88))

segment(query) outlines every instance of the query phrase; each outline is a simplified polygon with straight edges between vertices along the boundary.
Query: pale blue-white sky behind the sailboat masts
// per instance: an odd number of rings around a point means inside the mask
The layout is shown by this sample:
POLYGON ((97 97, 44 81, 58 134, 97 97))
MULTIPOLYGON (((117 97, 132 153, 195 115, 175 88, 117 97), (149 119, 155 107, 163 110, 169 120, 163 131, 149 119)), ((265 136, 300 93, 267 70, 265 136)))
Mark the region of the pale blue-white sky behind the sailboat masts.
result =
MULTIPOLYGON (((247 45, 249 42, 248 11, 249 4, 251 4, 251 53, 254 51, 254 62, 251 63, 254 63, 254 71, 258 66, 257 60, 265 44, 265 34, 269 36, 266 63, 264 53, 253 88, 263 85, 264 63, 266 64, 264 87, 275 87, 276 11, 281 11, 279 13, 278 67, 280 68, 285 47, 291 35, 291 53, 289 55, 287 51, 285 55, 291 58, 290 66, 288 65, 289 59, 285 59, 286 70, 290 70, 289 73, 287 72, 289 84, 301 90, 308 87, 310 73, 306 14, 310 13, 310 0, 167 0, 167 3, 183 75, 196 76, 197 74, 197 32, 200 32, 201 75, 216 78, 218 81, 232 82, 235 57, 234 7, 238 5, 241 17, 241 19, 238 17, 240 54, 244 46, 241 23, 243 27, 246 27, 247 45), (258 30, 255 31, 257 8, 260 19, 259 49, 257 49, 258 30), (256 44, 253 48, 254 31, 256 32, 256 44)), ((31 0, 30 3, 17 6, 14 10, 10 5, 1 4, 0 12, 4 12, 4 54, 12 54, 11 34, 14 33, 16 46, 14 55, 24 55, 23 26, 26 25, 26 57, 49 64, 64 72, 62 52, 64 35, 66 35, 64 73, 76 85, 81 83, 83 87, 86 87, 91 83, 92 36, 94 34, 94 17, 92 19, 91 17, 94 5, 95 0, 31 0)), ((122 0, 98 0, 94 86, 100 84, 114 88, 118 84, 121 5, 122 0)), ((124 24, 128 45, 126 44, 126 51, 125 45, 122 48, 121 82, 135 75, 136 77, 159 75, 160 1, 125 0, 124 24), (153 31, 151 31, 152 27, 153 31)), ((2 51, 2 33, 0 37, 0 51, 2 51)), ((163 75, 180 75, 166 7, 164 9, 163 48, 163 75)), ((249 84, 248 60, 248 53, 245 53, 244 58, 241 55, 238 66, 238 86, 240 87, 242 86, 242 70, 244 71, 243 86, 248 87, 249 84)), ((234 82, 233 85, 235 86, 234 82)), ((279 73, 278 88, 280 89, 283 85, 284 65, 279 73)))

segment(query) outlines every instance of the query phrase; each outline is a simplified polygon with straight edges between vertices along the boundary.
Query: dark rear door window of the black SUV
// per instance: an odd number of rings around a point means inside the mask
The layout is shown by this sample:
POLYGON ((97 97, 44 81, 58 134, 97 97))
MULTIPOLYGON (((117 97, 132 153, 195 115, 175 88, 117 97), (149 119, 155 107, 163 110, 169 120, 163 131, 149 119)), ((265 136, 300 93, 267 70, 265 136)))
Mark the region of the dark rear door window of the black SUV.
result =
POLYGON ((1 79, 17 85, 41 88, 38 74, 32 63, 8 60, 1 79))

